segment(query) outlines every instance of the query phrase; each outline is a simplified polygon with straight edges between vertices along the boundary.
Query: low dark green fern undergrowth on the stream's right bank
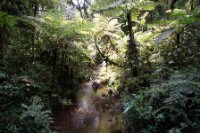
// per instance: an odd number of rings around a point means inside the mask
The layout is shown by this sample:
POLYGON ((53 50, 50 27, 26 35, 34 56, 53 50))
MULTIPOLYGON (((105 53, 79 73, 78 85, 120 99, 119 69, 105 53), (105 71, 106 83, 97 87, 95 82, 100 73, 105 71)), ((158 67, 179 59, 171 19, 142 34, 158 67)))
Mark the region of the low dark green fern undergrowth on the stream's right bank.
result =
POLYGON ((198 73, 197 69, 176 71, 168 81, 128 98, 124 105, 128 131, 199 131, 198 73))

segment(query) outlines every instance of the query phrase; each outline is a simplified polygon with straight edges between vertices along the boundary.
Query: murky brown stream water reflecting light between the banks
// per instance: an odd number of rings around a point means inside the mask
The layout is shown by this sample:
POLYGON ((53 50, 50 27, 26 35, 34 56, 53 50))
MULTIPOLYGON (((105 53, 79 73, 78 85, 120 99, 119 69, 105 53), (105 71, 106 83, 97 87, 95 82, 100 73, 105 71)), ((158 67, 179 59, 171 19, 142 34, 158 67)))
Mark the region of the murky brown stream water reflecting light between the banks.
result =
MULTIPOLYGON (((94 73, 98 79, 99 70, 94 73)), ((100 90, 95 92, 92 81, 80 86, 76 98, 75 107, 54 113, 54 127, 59 133, 122 133, 118 99, 102 95, 100 90)))

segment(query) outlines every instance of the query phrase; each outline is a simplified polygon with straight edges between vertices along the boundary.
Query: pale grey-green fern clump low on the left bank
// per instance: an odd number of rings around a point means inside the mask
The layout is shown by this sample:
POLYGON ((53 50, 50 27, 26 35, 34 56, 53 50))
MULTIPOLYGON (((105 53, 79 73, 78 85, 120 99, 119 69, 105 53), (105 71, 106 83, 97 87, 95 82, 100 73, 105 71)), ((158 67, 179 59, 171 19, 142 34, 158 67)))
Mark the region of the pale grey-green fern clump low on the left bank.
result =
POLYGON ((30 100, 31 104, 22 104, 23 111, 20 116, 27 131, 49 131, 49 125, 53 123, 51 111, 45 109, 40 97, 35 96, 30 100))

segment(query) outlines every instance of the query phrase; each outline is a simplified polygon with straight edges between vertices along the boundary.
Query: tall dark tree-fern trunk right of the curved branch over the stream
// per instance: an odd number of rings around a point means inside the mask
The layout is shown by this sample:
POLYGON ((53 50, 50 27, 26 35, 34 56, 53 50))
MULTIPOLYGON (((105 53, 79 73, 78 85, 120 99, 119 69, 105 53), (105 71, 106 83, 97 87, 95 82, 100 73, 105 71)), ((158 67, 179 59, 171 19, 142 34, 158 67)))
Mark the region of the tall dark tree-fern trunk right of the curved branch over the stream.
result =
POLYGON ((138 65, 138 51, 134 41, 134 33, 132 30, 132 20, 131 20, 131 13, 127 13, 127 22, 128 22, 128 30, 129 30, 129 48, 130 48, 130 55, 131 55, 131 66, 132 66, 132 74, 134 77, 138 76, 137 65, 138 65))

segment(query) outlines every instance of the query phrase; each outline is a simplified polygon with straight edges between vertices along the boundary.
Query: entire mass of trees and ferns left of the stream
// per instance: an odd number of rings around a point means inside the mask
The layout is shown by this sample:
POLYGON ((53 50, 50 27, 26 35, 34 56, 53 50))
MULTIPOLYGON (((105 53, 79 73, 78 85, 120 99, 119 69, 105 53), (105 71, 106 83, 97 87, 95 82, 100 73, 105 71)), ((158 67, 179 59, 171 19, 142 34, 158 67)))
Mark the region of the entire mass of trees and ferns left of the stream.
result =
POLYGON ((92 76, 84 40, 92 24, 67 20, 59 0, 0 5, 0 132, 51 132, 50 109, 71 105, 77 85, 92 76))

